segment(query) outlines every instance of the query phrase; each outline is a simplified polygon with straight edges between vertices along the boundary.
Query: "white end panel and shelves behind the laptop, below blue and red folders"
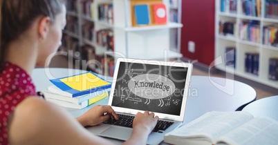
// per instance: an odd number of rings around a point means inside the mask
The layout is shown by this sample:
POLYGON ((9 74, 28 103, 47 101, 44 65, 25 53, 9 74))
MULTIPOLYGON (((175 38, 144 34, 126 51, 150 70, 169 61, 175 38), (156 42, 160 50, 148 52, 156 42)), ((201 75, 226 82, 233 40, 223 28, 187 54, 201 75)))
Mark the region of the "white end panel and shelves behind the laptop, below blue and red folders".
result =
MULTIPOLYGON (((170 30, 181 28, 183 25, 170 23, 168 18, 167 25, 133 27, 130 3, 131 0, 113 0, 115 53, 111 55, 137 59, 182 57, 180 52, 170 49, 170 30)), ((163 0, 163 3, 169 16, 169 0, 163 0)))

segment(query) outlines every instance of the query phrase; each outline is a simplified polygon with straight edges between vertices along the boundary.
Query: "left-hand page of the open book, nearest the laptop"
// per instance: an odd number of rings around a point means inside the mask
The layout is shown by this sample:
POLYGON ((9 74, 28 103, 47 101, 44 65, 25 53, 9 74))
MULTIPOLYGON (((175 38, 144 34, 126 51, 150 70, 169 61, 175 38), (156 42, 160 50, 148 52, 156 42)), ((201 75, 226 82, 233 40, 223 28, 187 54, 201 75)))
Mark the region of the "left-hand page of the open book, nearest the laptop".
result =
POLYGON ((213 143, 217 137, 252 119, 245 112, 210 112, 168 133, 181 138, 207 137, 213 143))

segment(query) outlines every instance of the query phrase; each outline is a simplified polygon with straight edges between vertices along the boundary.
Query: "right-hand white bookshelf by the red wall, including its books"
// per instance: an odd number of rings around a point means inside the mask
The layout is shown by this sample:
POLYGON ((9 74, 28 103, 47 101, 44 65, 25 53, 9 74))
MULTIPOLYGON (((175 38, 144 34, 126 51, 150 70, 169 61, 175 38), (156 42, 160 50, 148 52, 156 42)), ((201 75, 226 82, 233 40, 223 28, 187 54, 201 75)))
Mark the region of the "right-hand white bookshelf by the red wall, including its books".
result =
POLYGON ((278 81, 268 78, 270 58, 278 57, 278 46, 273 41, 277 38, 275 35, 266 37, 270 36, 267 28, 276 29, 273 34, 278 34, 278 17, 275 11, 270 10, 270 4, 269 0, 216 0, 214 56, 215 59, 221 58, 222 62, 215 63, 215 67, 278 88, 278 81), (235 48, 235 66, 225 63, 228 47, 235 48), (252 64, 252 68, 259 69, 257 75, 246 71, 249 67, 246 54, 250 52, 259 54, 259 61, 252 64))

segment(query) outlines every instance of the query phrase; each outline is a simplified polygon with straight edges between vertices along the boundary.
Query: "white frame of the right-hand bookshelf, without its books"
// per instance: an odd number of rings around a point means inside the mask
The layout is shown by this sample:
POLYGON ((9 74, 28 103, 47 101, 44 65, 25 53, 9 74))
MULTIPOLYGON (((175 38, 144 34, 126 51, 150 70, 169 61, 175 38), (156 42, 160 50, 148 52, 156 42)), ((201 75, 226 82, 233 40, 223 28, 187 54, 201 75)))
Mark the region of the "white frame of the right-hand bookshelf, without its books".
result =
POLYGON ((234 75, 257 81, 261 84, 278 88, 278 81, 268 79, 269 59, 278 57, 278 48, 266 46, 263 44, 263 26, 269 24, 278 24, 278 19, 265 18, 265 0, 261 0, 261 15, 259 17, 245 16, 242 12, 242 0, 237 0, 237 12, 221 12, 221 0, 215 2, 215 59, 221 57, 222 64, 215 67, 234 75), (237 33, 234 37, 223 36, 219 34, 219 21, 233 20, 236 21, 237 33), (259 43, 239 39, 239 23, 242 20, 259 21, 259 43), (236 48, 236 68, 225 66, 225 48, 235 46, 236 48), (245 72, 245 52, 259 52, 259 75, 245 72))

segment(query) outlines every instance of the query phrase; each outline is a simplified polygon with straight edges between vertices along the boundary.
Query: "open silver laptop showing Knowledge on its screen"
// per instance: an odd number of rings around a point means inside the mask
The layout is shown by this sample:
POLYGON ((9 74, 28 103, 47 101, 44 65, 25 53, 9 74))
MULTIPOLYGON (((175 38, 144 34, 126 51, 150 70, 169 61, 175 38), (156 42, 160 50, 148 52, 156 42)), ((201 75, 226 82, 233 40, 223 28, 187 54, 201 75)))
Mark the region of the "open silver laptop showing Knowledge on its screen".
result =
POLYGON ((160 144, 165 133, 178 128, 185 116, 185 106, 192 64, 142 59, 119 58, 115 64, 109 104, 119 115, 88 128, 102 137, 127 140, 132 133, 132 120, 145 110, 159 117, 147 144, 160 144))

